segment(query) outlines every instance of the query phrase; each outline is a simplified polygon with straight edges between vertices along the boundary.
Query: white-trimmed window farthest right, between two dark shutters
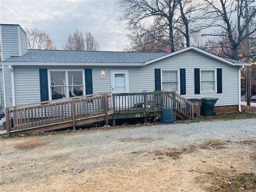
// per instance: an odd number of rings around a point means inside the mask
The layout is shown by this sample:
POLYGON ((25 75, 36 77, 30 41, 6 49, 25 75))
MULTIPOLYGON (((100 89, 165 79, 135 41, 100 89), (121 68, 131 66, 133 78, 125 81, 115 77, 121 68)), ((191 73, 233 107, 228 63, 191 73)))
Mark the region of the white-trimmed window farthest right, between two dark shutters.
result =
POLYGON ((216 90, 216 71, 201 70, 201 92, 215 92, 216 90))

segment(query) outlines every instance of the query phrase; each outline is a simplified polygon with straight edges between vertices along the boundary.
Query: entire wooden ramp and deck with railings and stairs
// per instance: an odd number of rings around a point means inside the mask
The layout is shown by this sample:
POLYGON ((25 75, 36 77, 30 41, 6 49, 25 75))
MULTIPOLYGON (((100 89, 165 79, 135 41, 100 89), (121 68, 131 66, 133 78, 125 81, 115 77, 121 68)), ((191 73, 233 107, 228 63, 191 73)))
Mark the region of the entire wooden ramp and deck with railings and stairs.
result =
POLYGON ((156 116, 162 107, 173 107, 175 115, 194 118, 193 104, 175 92, 145 92, 112 94, 109 107, 107 92, 90 94, 27 105, 7 107, 6 132, 10 134, 45 132, 82 126, 93 122, 120 118, 156 116))

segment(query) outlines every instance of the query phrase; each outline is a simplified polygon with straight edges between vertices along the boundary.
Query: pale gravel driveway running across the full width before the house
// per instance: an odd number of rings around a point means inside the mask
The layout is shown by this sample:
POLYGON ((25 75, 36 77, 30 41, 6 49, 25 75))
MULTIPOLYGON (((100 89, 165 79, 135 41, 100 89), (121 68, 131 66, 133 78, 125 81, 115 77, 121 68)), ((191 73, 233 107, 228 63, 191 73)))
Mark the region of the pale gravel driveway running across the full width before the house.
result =
MULTIPOLYGON (((158 150, 165 147, 182 148, 190 144, 201 144, 205 139, 223 141, 255 140, 256 119, 212 121, 190 124, 164 124, 140 126, 135 128, 116 128, 110 130, 91 130, 50 136, 32 136, 31 138, 11 138, 2 140, 1 157, 15 158, 17 154, 30 152, 24 147, 9 148, 5 144, 13 140, 17 144, 26 140, 41 140, 42 144, 33 150, 34 153, 65 155, 68 153, 84 158, 89 165, 113 163, 122 159, 122 153, 158 150), (14 153, 11 153, 14 152, 14 153), (116 152, 119 151, 120 155, 116 152), (102 159, 99 161, 99 154, 102 159)), ((38 154, 38 155, 39 155, 38 154)), ((76 157, 74 157, 75 159, 76 157)))

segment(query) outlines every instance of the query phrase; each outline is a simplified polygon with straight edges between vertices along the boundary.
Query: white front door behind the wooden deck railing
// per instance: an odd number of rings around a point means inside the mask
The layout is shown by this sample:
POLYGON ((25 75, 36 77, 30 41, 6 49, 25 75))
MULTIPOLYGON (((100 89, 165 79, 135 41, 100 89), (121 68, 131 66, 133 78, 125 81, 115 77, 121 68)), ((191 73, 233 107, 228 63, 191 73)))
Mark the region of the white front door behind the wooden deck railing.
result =
MULTIPOLYGON (((128 93, 128 71, 112 70, 111 71, 112 93, 128 93)), ((116 98, 115 106, 128 106, 128 97, 116 98)))

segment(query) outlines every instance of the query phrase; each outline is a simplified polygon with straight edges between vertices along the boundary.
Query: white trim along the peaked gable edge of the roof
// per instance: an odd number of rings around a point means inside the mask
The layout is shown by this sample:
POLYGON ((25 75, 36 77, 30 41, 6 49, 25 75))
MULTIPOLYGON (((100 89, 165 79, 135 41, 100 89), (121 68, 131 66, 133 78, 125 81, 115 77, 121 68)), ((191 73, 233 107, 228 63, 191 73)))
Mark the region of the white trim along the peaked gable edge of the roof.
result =
POLYGON ((194 50, 194 51, 196 51, 196 52, 199 52, 199 53, 201 53, 201 54, 204 54, 204 55, 206 55, 206 56, 208 56, 208 57, 214 58, 214 59, 219 60, 219 61, 221 61, 221 62, 224 62, 224 63, 226 63, 226 64, 229 64, 229 65, 231 65, 231 66, 244 66, 244 65, 245 65, 245 66, 248 66, 248 65, 250 65, 250 64, 248 64, 248 63, 234 63, 234 62, 232 62, 232 61, 230 61, 230 60, 227 60, 227 59, 225 59, 225 58, 222 58, 222 57, 219 57, 219 56, 214 55, 214 54, 212 54, 212 53, 209 53, 209 52, 207 52, 207 51, 204 51, 204 50, 202 50, 202 49, 200 49, 200 48, 197 48, 197 47, 195 47, 195 46, 190 46, 190 47, 184 48, 184 49, 182 49, 182 50, 178 50, 178 51, 176 51, 176 52, 173 52, 173 53, 170 53, 170 54, 166 54, 166 55, 164 55, 164 56, 161 56, 161 57, 152 59, 152 60, 147 61, 147 62, 145 62, 145 63, 146 63, 146 65, 147 65, 147 64, 150 64, 150 63, 153 63, 153 62, 162 60, 162 59, 164 59, 164 58, 167 58, 167 57, 170 57, 170 56, 173 56, 173 55, 176 55, 176 54, 185 52, 185 51, 187 51, 187 50, 194 50))

